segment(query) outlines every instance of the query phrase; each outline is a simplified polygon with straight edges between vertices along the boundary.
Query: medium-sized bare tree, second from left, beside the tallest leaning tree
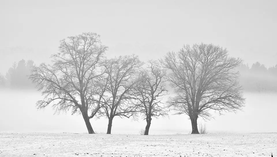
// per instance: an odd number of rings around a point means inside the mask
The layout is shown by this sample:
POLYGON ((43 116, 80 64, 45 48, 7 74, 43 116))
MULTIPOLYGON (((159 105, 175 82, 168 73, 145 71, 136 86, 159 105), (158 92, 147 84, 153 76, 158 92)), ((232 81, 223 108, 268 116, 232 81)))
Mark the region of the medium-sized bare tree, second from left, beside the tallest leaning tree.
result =
POLYGON ((134 86, 138 82, 138 71, 143 63, 138 56, 126 55, 106 60, 104 63, 105 76, 108 81, 108 89, 103 95, 104 112, 109 120, 107 134, 111 134, 112 122, 115 116, 130 118, 135 113, 135 105, 132 105, 134 86))

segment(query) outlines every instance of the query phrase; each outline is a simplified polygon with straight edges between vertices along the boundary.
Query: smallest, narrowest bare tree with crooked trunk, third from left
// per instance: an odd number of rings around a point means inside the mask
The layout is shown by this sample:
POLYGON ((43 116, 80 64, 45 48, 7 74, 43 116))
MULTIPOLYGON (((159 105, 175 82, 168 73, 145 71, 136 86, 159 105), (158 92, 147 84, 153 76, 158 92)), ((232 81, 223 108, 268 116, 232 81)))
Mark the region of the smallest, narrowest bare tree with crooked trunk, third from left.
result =
POLYGON ((144 135, 148 135, 152 117, 165 116, 167 110, 161 105, 162 98, 167 94, 164 82, 165 71, 158 62, 149 60, 149 66, 141 72, 140 83, 137 87, 139 91, 138 112, 145 117, 147 125, 144 135))

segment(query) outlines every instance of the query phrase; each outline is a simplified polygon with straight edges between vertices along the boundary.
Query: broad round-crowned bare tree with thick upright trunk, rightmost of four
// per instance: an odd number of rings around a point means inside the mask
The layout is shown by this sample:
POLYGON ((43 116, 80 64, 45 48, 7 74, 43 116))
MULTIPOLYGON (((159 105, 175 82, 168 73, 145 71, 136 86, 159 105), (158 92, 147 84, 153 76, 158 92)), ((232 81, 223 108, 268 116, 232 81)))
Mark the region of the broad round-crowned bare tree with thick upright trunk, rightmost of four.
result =
POLYGON ((168 101, 176 114, 187 114, 192 134, 198 134, 197 118, 209 119, 209 110, 235 112, 244 106, 242 87, 238 84, 239 58, 228 56, 227 49, 212 44, 184 45, 160 60, 170 73, 166 79, 176 94, 168 101))

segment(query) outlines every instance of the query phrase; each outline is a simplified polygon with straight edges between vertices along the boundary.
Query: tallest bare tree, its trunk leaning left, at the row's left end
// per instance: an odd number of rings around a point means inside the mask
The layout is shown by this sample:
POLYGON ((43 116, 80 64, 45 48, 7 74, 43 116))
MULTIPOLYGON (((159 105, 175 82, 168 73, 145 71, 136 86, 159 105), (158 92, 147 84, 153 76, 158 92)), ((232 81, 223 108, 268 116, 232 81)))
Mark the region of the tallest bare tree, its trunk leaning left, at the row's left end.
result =
POLYGON ((59 53, 52 55, 53 65, 35 66, 30 75, 42 91, 44 99, 36 103, 38 109, 53 104, 55 113, 72 109, 72 114, 82 114, 89 134, 94 133, 89 119, 102 107, 106 85, 100 77, 103 70, 99 62, 107 49, 96 33, 83 33, 60 41, 59 53), (102 86, 96 86, 100 84, 102 86))

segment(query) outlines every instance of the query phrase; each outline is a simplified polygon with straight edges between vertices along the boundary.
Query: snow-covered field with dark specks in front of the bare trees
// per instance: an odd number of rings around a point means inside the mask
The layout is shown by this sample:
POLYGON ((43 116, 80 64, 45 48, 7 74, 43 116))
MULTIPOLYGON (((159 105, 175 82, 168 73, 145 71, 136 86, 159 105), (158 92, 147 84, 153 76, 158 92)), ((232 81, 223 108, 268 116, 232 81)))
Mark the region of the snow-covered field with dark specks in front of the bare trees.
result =
POLYGON ((0 132, 0 156, 277 156, 277 133, 119 135, 0 132))

